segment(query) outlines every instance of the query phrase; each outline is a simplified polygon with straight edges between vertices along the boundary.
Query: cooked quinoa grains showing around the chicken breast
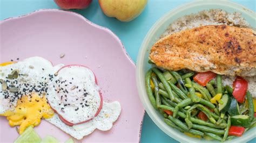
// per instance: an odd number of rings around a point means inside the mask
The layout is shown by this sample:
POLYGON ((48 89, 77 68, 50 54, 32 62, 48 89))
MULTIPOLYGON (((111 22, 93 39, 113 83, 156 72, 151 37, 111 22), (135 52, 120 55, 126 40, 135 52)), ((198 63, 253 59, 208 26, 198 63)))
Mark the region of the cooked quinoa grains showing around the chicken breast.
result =
MULTIPOLYGON (((252 28, 250 24, 248 24, 246 20, 241 17, 241 13, 228 13, 221 9, 210 9, 178 18, 167 27, 166 31, 161 35, 160 38, 194 27, 222 24, 252 28)), ((253 98, 256 98, 256 76, 244 78, 248 82, 248 90, 251 92, 253 98)), ((234 80, 235 77, 223 76, 223 85, 231 85, 232 87, 234 80)))

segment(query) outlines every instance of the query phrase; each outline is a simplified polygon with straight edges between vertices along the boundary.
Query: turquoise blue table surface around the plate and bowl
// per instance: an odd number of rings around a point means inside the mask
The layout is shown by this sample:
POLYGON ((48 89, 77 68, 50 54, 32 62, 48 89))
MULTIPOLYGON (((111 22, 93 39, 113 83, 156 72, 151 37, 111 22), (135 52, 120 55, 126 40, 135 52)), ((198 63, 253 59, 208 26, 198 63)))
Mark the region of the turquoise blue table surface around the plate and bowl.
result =
MULTIPOLYGON (((150 0, 142 14, 129 23, 119 22, 115 18, 104 15, 99 8, 98 1, 94 0, 85 10, 73 10, 82 14, 91 22, 112 30, 123 42, 127 53, 136 61, 140 44, 151 26, 166 12, 177 6, 189 2, 187 0, 150 0)), ((233 2, 256 11, 255 0, 235 0, 233 2)), ((17 17, 38 9, 58 9, 53 0, 0 0, 0 20, 8 17, 17 17)), ((146 114, 142 127, 141 142, 178 142, 161 131, 146 114)), ((249 141, 256 142, 256 138, 249 141)))

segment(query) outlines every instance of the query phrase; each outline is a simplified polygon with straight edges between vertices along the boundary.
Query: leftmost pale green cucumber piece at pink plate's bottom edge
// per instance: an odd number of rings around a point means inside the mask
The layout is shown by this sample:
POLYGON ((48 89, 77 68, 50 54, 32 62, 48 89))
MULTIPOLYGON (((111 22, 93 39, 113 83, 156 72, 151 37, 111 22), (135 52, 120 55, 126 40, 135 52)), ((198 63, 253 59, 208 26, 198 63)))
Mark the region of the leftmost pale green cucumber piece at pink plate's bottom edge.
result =
POLYGON ((41 138, 31 126, 27 127, 26 130, 21 135, 19 135, 19 137, 14 141, 14 143, 28 143, 28 142, 33 142, 33 143, 41 142, 41 138))

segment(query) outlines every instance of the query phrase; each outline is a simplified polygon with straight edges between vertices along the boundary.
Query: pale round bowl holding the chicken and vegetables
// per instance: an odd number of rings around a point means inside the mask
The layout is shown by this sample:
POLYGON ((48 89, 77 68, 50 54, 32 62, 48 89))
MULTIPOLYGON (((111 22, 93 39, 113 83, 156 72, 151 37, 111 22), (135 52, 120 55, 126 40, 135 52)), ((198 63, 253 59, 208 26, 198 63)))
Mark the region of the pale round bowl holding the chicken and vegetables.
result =
MULTIPOLYGON (((197 13, 201 10, 217 8, 223 9, 227 12, 240 12, 242 13, 242 17, 244 17, 246 21, 253 26, 253 28, 256 27, 255 12, 248 10, 242 5, 228 1, 195 1, 186 3, 168 12, 152 26, 151 30, 147 33, 142 43, 142 46, 140 47, 140 51, 137 57, 136 82, 140 101, 142 101, 146 112, 149 114, 150 118, 154 121, 154 123, 170 137, 180 142, 206 142, 206 140, 188 137, 187 135, 179 132, 178 130, 166 125, 163 120, 163 116, 161 116, 160 113, 155 110, 151 105, 149 98, 147 97, 145 88, 145 73, 149 68, 151 68, 151 65, 147 62, 149 60, 149 51, 154 42, 156 42, 160 35, 164 33, 167 26, 169 26, 169 24, 177 18, 189 15, 191 13, 197 13)), ((256 128, 254 127, 244 133, 242 137, 234 138, 227 142, 246 142, 255 137, 256 128)))

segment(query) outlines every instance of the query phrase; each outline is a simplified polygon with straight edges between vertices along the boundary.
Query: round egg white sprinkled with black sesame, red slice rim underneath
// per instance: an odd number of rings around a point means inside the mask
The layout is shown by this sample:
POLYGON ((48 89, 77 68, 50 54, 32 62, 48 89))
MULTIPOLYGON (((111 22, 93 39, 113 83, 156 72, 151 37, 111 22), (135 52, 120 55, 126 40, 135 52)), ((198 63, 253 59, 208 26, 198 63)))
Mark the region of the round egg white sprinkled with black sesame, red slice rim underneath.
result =
POLYGON ((60 68, 51 84, 49 104, 66 125, 85 123, 102 109, 103 99, 97 89, 96 76, 86 66, 60 68))

